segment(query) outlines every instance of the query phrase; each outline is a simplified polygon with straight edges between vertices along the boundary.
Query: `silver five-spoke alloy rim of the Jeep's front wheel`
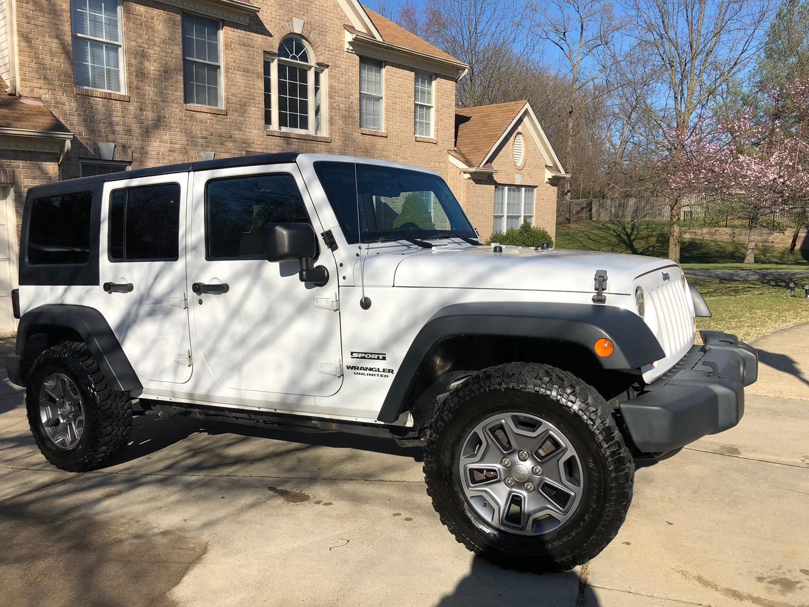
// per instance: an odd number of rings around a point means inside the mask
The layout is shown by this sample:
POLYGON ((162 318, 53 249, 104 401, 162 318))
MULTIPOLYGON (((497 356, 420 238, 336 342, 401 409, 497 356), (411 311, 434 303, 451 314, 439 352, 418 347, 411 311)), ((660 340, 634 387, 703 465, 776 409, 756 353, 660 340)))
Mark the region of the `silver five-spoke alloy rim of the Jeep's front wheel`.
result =
POLYGON ((553 531, 573 516, 582 498, 578 452, 536 415, 508 412, 477 424, 461 445, 458 471, 475 511, 494 527, 519 535, 553 531), (527 452, 527 460, 519 452, 527 452))

